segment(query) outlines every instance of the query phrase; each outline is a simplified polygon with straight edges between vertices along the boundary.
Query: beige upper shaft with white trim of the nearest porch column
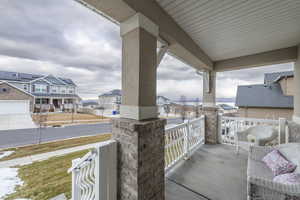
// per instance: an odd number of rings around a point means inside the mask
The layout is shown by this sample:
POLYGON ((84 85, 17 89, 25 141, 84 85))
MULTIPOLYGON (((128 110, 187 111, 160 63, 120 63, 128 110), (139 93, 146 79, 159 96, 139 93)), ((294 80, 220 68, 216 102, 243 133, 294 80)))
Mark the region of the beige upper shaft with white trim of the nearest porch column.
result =
POLYGON ((122 105, 121 117, 157 118, 156 63, 158 26, 141 14, 121 24, 122 105))

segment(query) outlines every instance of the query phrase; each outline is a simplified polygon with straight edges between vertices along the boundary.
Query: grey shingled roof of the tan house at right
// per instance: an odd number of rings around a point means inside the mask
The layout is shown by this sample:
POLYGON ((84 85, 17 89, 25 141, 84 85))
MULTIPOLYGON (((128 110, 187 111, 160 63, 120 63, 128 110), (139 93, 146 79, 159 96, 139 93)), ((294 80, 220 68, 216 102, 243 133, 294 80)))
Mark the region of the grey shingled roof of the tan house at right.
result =
POLYGON ((293 96, 285 96, 279 83, 238 86, 236 106, 293 108, 293 96))

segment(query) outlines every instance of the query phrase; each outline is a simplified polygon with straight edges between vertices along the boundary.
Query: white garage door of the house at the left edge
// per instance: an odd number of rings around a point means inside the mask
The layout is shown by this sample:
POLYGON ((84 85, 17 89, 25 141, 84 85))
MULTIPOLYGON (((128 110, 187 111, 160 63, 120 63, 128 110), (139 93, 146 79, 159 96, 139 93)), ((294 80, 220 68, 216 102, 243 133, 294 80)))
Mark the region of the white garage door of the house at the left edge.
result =
POLYGON ((0 100, 0 115, 29 113, 30 102, 28 100, 0 100))

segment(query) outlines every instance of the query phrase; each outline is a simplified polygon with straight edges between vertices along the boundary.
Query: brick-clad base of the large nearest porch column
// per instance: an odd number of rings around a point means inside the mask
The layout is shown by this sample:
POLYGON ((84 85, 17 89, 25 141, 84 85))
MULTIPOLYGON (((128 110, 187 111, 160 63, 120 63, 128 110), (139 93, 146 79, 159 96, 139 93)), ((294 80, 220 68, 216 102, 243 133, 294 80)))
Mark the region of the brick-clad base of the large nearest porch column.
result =
POLYGON ((166 120, 112 121, 118 141, 118 200, 164 200, 166 120))

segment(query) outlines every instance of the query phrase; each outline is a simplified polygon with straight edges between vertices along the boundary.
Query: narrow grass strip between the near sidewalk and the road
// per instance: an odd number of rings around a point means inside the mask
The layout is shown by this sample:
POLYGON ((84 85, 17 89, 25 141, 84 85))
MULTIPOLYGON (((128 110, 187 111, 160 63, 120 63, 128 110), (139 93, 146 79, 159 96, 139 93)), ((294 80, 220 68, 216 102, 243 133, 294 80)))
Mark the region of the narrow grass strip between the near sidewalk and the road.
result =
POLYGON ((74 138, 68 140, 60 140, 56 142, 42 143, 39 145, 35 144, 35 145, 29 145, 24 147, 18 147, 18 148, 2 149, 1 151, 14 151, 14 153, 0 159, 0 161, 11 160, 14 158, 20 158, 24 156, 56 151, 59 149, 81 146, 81 145, 86 145, 86 144, 91 144, 96 142, 102 142, 105 140, 109 140, 110 138, 111 138, 111 134, 101 134, 96 136, 80 137, 80 138, 74 138))

